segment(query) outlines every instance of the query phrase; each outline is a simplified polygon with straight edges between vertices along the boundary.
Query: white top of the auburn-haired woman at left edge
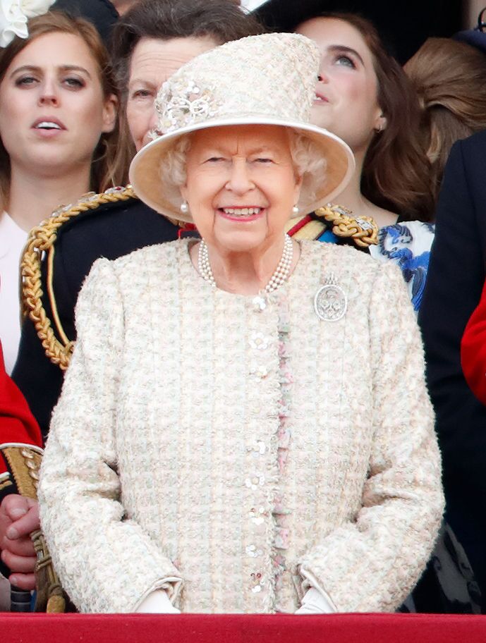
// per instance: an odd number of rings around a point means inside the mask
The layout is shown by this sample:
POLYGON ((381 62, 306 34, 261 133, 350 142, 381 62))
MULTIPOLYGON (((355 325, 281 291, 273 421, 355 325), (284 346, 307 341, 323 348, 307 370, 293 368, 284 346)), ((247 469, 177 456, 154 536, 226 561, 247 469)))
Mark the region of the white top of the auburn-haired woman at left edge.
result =
POLYGON ((0 214, 0 340, 8 374, 20 343, 20 257, 27 237, 11 216, 0 214))

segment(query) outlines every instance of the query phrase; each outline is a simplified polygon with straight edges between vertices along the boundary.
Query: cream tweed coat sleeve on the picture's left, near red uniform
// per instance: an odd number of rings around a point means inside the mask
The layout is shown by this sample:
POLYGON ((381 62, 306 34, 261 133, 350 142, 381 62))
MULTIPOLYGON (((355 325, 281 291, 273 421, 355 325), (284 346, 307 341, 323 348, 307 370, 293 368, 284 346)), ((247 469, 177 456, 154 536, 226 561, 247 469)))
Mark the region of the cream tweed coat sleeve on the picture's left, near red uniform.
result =
POLYGON ((126 517, 120 498, 115 427, 123 305, 107 259, 87 277, 76 319, 78 343, 51 422, 39 490, 54 566, 80 611, 135 611, 154 589, 174 601, 178 571, 126 517), (89 554, 80 560, 82 551, 89 554))

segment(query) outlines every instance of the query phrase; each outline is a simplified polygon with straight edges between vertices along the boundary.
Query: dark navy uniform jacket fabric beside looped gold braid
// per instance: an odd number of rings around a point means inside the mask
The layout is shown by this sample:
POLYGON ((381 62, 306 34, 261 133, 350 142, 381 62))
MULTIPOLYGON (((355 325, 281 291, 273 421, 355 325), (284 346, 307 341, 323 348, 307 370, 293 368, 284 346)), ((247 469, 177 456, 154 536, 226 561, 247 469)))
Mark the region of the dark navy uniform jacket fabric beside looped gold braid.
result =
MULTIPOLYGON (((178 237, 179 229, 137 199, 102 205, 64 223, 56 240, 53 289, 68 338, 75 339, 75 303, 96 259, 116 259, 146 245, 172 241, 178 237)), ((44 280, 45 263, 42 268, 44 280)), ((47 292, 45 286, 43 291, 47 292)), ((43 302, 51 319, 48 298, 44 296, 43 302)), ((30 319, 23 324, 12 379, 27 399, 45 439, 51 411, 61 392, 63 372, 45 355, 30 319)))

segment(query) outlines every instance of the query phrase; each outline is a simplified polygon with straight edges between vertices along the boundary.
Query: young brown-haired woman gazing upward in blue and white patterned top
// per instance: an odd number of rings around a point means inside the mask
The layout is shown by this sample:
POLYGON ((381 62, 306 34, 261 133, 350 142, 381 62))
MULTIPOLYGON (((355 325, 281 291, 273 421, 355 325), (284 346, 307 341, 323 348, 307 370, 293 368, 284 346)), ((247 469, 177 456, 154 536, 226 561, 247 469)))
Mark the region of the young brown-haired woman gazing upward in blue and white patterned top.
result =
POLYGON ((421 145, 418 99, 375 27, 353 14, 317 16, 297 27, 321 52, 312 121, 353 149, 356 172, 334 202, 375 219, 371 254, 399 265, 418 309, 433 228, 430 164, 421 145))

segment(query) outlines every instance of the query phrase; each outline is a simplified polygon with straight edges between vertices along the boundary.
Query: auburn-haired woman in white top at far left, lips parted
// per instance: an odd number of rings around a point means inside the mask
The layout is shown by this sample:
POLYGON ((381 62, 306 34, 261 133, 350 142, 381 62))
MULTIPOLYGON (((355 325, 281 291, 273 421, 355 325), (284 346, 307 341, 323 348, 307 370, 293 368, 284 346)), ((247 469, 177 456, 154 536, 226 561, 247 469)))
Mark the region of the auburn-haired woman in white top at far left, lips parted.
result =
POLYGON ((0 338, 10 372, 20 337, 19 261, 60 204, 121 183, 118 99, 107 51, 85 20, 49 12, 0 51, 0 338))

